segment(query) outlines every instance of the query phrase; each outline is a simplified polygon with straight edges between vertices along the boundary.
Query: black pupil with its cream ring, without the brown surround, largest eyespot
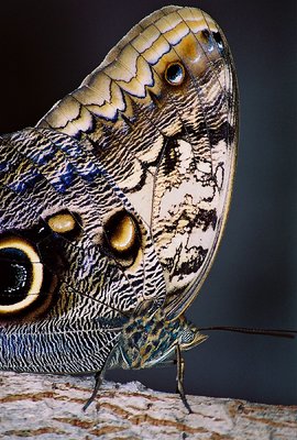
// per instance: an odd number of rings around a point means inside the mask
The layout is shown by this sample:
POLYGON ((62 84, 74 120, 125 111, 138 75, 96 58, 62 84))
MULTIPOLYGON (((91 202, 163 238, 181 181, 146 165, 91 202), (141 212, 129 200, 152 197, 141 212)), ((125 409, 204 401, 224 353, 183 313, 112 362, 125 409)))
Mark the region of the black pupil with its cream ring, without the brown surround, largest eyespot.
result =
POLYGON ((0 240, 0 315, 25 310, 40 296, 43 264, 35 249, 19 237, 0 240))

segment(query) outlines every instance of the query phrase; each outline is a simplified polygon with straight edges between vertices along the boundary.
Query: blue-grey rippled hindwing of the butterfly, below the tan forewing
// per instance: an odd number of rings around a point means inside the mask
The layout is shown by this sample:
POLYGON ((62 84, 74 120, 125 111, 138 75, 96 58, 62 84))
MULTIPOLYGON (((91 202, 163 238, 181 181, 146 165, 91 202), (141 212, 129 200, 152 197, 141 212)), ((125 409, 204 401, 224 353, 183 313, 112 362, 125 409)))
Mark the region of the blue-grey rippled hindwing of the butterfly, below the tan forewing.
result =
POLYGON ((109 255, 100 243, 106 218, 117 210, 133 212, 133 208, 100 164, 72 138, 28 129, 4 136, 0 153, 1 270, 6 270, 1 253, 6 240, 11 248, 26 243, 36 249, 35 258, 40 255, 41 261, 33 266, 43 268, 42 275, 33 274, 35 283, 43 279, 29 295, 32 304, 22 305, 15 295, 11 302, 3 301, 7 290, 1 292, 1 369, 99 371, 120 336, 108 323, 145 299, 156 305, 164 300, 163 274, 148 231, 141 229, 136 267, 123 268, 109 255), (48 228, 47 219, 56 212, 75 212, 74 237, 48 228))

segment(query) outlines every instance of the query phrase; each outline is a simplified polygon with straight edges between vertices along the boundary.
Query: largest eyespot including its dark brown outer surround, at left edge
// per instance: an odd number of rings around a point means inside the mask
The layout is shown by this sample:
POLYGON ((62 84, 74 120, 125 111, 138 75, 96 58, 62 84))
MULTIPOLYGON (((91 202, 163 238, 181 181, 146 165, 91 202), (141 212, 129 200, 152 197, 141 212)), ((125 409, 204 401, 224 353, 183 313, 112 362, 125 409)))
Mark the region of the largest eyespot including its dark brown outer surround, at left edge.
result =
POLYGON ((14 232, 0 235, 0 321, 37 319, 52 305, 56 275, 34 243, 14 232))

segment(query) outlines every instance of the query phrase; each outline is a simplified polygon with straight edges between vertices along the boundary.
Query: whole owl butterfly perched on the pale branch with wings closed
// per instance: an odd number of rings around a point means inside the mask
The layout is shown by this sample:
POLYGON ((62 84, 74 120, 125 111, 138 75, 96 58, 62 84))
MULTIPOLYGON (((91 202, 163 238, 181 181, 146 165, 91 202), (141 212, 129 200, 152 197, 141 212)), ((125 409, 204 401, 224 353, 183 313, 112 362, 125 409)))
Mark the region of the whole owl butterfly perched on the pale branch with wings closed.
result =
POLYGON ((224 228, 238 90, 222 31, 166 7, 34 127, 0 138, 0 369, 144 369, 206 337, 184 311, 224 228))

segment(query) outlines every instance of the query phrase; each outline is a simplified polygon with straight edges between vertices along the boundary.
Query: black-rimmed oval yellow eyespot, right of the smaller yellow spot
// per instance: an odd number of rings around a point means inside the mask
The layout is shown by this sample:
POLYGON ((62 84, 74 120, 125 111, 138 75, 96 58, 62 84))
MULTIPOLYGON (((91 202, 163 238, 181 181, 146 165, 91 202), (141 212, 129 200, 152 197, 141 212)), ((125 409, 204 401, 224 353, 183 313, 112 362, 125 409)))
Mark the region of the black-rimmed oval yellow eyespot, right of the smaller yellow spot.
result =
POLYGON ((105 227, 108 246, 117 260, 124 265, 134 262, 140 249, 139 231, 135 219, 127 211, 116 212, 105 227))

